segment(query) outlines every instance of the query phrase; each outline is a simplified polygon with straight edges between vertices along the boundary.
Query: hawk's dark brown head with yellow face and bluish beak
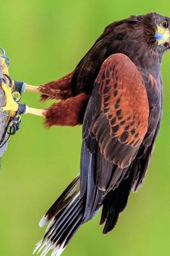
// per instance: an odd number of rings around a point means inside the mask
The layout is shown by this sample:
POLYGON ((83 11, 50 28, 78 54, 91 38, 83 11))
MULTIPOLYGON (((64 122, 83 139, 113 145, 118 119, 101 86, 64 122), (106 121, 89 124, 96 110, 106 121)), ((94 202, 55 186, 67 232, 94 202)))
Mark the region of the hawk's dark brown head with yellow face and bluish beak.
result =
POLYGON ((159 13, 133 15, 110 24, 104 35, 113 40, 117 51, 127 54, 140 65, 160 63, 162 54, 170 49, 170 18, 159 13), (121 42, 120 42, 121 41, 121 42))

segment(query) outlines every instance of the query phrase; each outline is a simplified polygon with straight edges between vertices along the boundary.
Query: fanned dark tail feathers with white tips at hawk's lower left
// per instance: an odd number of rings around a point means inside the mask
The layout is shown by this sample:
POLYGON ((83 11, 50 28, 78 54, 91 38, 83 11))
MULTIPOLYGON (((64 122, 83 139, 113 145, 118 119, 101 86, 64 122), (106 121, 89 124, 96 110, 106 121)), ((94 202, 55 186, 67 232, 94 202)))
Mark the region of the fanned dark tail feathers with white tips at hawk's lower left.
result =
POLYGON ((83 220, 83 198, 80 198, 80 177, 69 184, 57 201, 39 222, 43 227, 49 222, 45 235, 33 253, 45 256, 50 250, 52 256, 59 256, 83 220))

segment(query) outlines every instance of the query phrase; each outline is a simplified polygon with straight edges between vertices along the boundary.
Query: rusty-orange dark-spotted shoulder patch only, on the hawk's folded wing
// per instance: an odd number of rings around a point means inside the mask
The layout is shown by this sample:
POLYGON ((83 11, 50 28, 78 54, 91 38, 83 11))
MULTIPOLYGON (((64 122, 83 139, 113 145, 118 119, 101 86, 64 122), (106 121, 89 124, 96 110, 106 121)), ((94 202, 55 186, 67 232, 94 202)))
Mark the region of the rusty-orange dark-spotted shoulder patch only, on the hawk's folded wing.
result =
POLYGON ((101 110, 110 122, 110 134, 136 147, 143 141, 149 116, 140 72, 127 56, 114 54, 104 61, 97 82, 102 96, 101 110))

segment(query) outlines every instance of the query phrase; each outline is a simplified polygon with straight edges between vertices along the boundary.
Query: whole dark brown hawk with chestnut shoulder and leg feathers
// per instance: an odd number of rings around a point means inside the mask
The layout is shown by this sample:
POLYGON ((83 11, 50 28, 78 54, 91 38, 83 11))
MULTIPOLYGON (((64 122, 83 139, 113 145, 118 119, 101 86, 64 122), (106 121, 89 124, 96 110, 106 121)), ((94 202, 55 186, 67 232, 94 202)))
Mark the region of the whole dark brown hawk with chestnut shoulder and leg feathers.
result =
MULTIPOLYGON (((45 124, 83 125, 80 175, 46 212, 34 252, 59 256, 78 228, 102 208, 103 234, 116 225, 129 193, 142 184, 162 116, 161 63, 169 50, 170 19, 158 13, 113 22, 70 74, 25 85, 41 100, 57 99, 45 124)), ((23 89, 23 88, 22 88, 23 89)))

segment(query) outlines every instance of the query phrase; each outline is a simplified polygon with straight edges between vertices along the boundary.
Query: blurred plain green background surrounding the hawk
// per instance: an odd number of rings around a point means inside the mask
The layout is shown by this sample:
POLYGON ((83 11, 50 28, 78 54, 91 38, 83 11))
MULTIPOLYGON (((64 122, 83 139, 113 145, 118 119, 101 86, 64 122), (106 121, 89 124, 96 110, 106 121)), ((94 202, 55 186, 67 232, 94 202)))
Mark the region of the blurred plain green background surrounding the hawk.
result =
MULTIPOLYGON (((151 1, 0 1, 1 40, 10 75, 38 85, 71 72, 106 25, 132 14, 170 15, 170 3, 151 1)), ((100 214, 74 236, 64 255, 167 255, 170 243, 170 52, 164 56, 164 116, 147 179, 132 194, 108 236, 100 214)), ((42 108, 39 96, 22 102, 42 108)), ((43 104, 49 106, 50 102, 43 104)), ((29 256, 43 232, 38 222, 79 172, 81 127, 52 127, 26 115, 10 139, 0 173, 0 255, 29 256)))

